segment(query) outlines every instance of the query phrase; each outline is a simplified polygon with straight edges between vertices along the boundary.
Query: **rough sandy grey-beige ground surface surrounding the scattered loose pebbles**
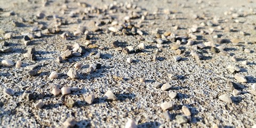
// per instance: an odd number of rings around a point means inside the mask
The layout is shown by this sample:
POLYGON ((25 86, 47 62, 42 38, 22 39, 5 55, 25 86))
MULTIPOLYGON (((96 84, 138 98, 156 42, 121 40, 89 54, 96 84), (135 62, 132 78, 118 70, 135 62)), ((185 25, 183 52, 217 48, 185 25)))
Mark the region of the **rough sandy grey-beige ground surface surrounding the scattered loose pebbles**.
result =
MULTIPOLYGON (((76 119, 76 127, 124 127, 127 118, 133 118, 138 127, 212 127, 215 124, 224 127, 252 127, 256 124, 255 91, 252 85, 256 83, 256 3, 255 1, 133 1, 136 9, 121 9, 115 13, 109 13, 114 20, 121 22, 131 11, 148 12, 145 20, 141 18, 132 19, 132 22, 140 22, 143 35, 122 35, 105 33, 111 23, 99 26, 103 31, 92 31, 86 40, 86 35, 78 35, 71 40, 62 39, 63 31, 73 33, 80 26, 90 30, 90 21, 109 21, 100 19, 101 14, 87 13, 85 19, 79 17, 86 7, 78 6, 82 1, 49 1, 43 6, 44 1, 0 1, 0 28, 4 33, 12 32, 14 37, 5 40, 13 48, 11 52, 0 53, 0 60, 22 60, 22 67, 15 68, 0 65, 0 91, 10 87, 15 91, 13 96, 0 95, 0 125, 2 127, 60 127, 68 117, 76 119), (63 14, 63 5, 68 8, 63 14), (165 10, 169 9, 170 14, 165 10), (254 9, 254 10, 253 10, 254 9), (15 15, 6 16, 7 12, 14 11, 15 15), (69 17, 70 12, 79 12, 77 17, 69 17), (47 18, 37 19, 36 15, 43 12, 47 18), (225 12, 231 14, 225 15, 225 12), (231 18, 233 13, 243 15, 231 18), (68 21, 68 25, 61 25, 60 32, 45 34, 42 38, 33 39, 29 45, 24 45, 22 34, 35 33, 31 29, 44 25, 46 28, 54 27, 56 14, 68 21), (194 14, 199 18, 195 19, 194 14), (166 17, 169 17, 167 19, 166 17), (35 19, 34 23, 22 22, 21 18, 29 21, 35 19), (202 22, 218 20, 215 26, 202 26, 202 22), (13 26, 13 21, 22 23, 20 27, 13 26), (174 26, 180 29, 175 30, 174 26), (220 35, 227 39, 226 43, 216 44, 225 46, 228 54, 213 53, 210 48, 198 49, 203 54, 202 60, 196 60, 189 52, 193 45, 182 43, 180 49, 185 50, 185 55, 180 61, 174 61, 173 56, 177 55, 170 47, 175 42, 165 42, 162 48, 157 48, 156 43, 141 41, 140 38, 152 38, 155 34, 152 30, 156 28, 159 34, 165 31, 172 31, 177 35, 185 35, 188 29, 197 25, 199 32, 194 33, 198 38, 194 45, 214 42, 214 35, 220 35), (218 29, 229 27, 233 31, 218 29), (202 34, 200 30, 214 28, 213 34, 202 34), (245 35, 241 35, 243 31, 245 35), (239 39, 239 43, 231 43, 230 39, 239 39), (85 45, 90 41, 106 49, 90 49, 81 57, 70 57, 61 63, 56 62, 59 55, 63 53, 64 45, 85 45), (136 47, 139 43, 145 43, 146 49, 140 53, 124 54, 115 51, 111 44, 115 41, 121 42, 124 46, 136 47), (27 47, 35 47, 36 61, 23 58, 27 47), (156 53, 158 49, 159 52, 156 53), (251 52, 246 53, 244 49, 251 52), (100 52, 101 58, 95 59, 91 52, 100 52), (158 60, 152 61, 153 55, 157 54, 158 60), (236 55, 238 61, 234 62, 231 57, 236 55), (132 63, 126 59, 132 58, 132 63), (247 60, 248 65, 242 65, 247 60), (83 63, 83 68, 78 69, 79 77, 71 79, 67 76, 69 68, 76 62, 83 63), (36 76, 29 76, 26 66, 37 63, 39 66, 36 76), (92 74, 86 73, 89 65, 100 63, 101 68, 92 74), (239 74, 246 77, 247 83, 241 83, 234 78, 234 73, 227 69, 229 65, 237 65, 241 68, 239 74), (58 78, 49 79, 51 71, 57 71, 58 78), (178 76, 172 80, 168 74, 178 76), (122 80, 114 76, 122 77, 122 80), (145 77, 146 82, 140 82, 139 78, 145 77), (234 95, 226 83, 232 81, 242 91, 234 95), (154 82, 170 83, 171 89, 162 91, 154 87, 154 82), (53 85, 60 87, 79 87, 81 90, 68 95, 54 96, 51 93, 53 85), (118 100, 106 100, 103 95, 111 90, 118 100), (30 91, 36 95, 32 100, 22 99, 22 93, 30 91), (171 99, 170 92, 177 92, 177 98, 171 99), (44 93, 44 94, 43 94, 44 93), (94 93, 95 99, 91 105, 85 102, 88 94, 94 93), (228 94, 232 103, 223 102, 219 99, 222 94, 228 94), (75 106, 69 108, 65 101, 72 98, 76 101, 75 106), (34 103, 42 99, 45 105, 41 109, 35 109, 34 103), (170 110, 170 119, 166 119, 165 111, 159 107, 165 101, 174 101, 174 108, 170 110), (185 124, 179 124, 175 116, 183 115, 182 106, 187 106, 191 116, 185 124)), ((113 4, 113 1, 86 1, 90 7, 103 9, 106 5, 113 4)), ((125 1, 118 1, 117 4, 125 1)), ((90 8, 87 7, 87 8, 90 8)), ((108 10, 109 11, 109 10, 108 10)), ((41 29, 42 30, 42 29, 41 29)), ((4 37, 1 33, 0 37, 4 37)), ((1 41, 1 43, 4 41, 1 41)))

